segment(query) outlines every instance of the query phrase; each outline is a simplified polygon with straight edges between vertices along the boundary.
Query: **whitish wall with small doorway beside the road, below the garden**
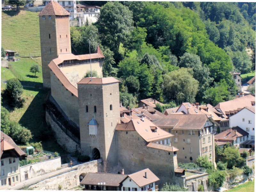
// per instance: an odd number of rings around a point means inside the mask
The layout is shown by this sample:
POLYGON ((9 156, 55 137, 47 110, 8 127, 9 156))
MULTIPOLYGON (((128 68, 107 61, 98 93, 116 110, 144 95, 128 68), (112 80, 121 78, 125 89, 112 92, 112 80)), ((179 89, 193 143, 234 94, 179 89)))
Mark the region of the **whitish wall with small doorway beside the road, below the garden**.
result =
POLYGON ((22 166, 20 167, 20 180, 25 181, 25 173, 28 173, 28 179, 30 179, 38 175, 56 171, 60 167, 60 157, 22 166))

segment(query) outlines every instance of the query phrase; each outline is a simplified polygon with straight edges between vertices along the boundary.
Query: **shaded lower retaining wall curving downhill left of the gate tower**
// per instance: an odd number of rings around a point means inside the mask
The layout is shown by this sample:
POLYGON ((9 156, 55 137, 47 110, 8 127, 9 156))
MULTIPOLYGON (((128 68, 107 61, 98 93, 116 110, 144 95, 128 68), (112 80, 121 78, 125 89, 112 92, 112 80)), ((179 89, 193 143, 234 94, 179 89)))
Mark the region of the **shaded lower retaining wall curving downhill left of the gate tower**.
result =
POLYGON ((80 151, 79 145, 62 131, 59 125, 52 120, 47 112, 45 112, 45 121, 51 125, 52 130, 55 133, 55 139, 62 148, 70 153, 75 153, 76 149, 80 151))

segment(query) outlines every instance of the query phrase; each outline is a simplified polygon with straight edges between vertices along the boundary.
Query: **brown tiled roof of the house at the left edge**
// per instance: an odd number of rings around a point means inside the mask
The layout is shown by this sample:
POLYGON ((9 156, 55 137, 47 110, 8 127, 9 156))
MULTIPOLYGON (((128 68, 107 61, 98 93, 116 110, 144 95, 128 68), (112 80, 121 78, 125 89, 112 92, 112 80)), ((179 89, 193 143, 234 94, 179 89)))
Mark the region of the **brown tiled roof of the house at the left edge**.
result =
POLYGON ((11 137, 6 135, 3 131, 1 131, 1 157, 4 151, 14 149, 19 156, 23 156, 26 153, 18 147, 11 137), (3 137, 4 136, 4 137, 3 137), (3 139, 4 138, 4 139, 3 139))

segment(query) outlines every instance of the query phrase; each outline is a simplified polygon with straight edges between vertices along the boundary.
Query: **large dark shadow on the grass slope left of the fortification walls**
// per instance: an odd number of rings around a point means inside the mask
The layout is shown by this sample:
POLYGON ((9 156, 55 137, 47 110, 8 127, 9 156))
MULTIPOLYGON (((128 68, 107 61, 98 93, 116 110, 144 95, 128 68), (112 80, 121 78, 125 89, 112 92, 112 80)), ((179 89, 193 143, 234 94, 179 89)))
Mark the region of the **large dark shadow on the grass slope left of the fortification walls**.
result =
POLYGON ((49 90, 33 87, 23 87, 23 89, 38 91, 19 121, 22 126, 28 128, 32 135, 34 135, 30 142, 42 141, 44 150, 52 152, 58 151, 61 154, 65 154, 65 151, 57 144, 54 134, 48 131, 48 125, 45 122, 44 101, 47 95, 49 95, 49 90), (47 134, 45 132, 47 132, 47 134))

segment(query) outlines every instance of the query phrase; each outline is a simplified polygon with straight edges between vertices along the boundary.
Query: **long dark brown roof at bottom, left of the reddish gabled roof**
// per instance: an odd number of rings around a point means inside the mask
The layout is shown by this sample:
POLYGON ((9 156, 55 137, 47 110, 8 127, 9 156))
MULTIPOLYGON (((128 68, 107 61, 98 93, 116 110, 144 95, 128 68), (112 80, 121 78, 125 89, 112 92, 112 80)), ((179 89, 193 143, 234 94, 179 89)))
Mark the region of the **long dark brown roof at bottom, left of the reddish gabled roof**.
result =
POLYGON ((98 183, 105 182, 103 186, 119 187, 120 184, 127 178, 126 174, 110 174, 110 173, 88 173, 80 184, 84 185, 98 185, 98 183))

